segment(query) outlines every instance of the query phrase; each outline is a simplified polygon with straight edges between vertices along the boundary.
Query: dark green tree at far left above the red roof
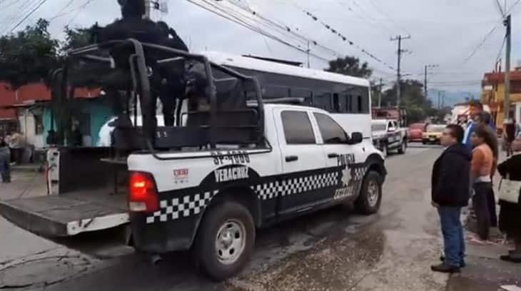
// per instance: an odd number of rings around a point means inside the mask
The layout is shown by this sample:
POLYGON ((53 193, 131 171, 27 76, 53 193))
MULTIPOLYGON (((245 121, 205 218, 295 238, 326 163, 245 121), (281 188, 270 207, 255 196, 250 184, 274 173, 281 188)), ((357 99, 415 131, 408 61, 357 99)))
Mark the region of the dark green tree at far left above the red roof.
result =
POLYGON ((59 66, 59 41, 49 34, 49 21, 39 19, 16 34, 0 37, 0 80, 12 89, 26 83, 47 81, 59 66))

